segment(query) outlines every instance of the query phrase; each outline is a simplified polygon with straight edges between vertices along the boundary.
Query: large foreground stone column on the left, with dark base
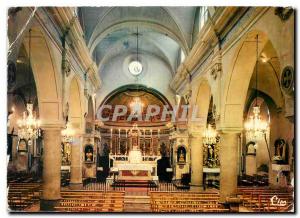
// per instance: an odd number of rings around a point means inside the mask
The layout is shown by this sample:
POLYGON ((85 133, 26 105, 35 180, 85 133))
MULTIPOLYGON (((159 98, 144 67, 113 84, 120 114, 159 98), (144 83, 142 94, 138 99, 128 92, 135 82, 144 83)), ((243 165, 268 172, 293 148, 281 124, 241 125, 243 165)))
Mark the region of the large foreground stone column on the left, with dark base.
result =
POLYGON ((44 128, 42 211, 53 211, 60 199, 61 128, 44 128))

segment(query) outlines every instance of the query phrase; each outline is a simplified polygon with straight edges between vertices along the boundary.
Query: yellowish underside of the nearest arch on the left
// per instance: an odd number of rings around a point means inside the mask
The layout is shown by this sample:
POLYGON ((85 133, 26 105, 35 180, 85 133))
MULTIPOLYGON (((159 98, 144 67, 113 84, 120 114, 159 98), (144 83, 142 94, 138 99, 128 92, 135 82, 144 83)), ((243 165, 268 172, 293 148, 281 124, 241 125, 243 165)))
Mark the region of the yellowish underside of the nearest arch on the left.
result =
MULTIPOLYGON (((29 37, 24 37, 29 52, 29 37)), ((39 118, 42 126, 62 125, 61 75, 58 73, 50 39, 40 27, 31 28, 31 68, 37 90, 39 118)))

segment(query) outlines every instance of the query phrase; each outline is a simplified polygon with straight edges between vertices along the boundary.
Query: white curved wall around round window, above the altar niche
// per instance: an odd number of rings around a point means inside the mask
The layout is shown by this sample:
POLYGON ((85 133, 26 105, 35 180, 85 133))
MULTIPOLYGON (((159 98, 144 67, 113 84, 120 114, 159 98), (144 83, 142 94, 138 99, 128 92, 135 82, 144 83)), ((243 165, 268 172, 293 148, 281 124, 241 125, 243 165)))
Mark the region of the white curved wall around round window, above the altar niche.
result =
POLYGON ((139 58, 141 58, 143 64, 143 72, 139 75, 138 79, 128 71, 128 63, 132 58, 128 54, 115 56, 105 64, 100 72, 103 86, 97 92, 97 107, 110 92, 128 84, 141 84, 156 89, 172 105, 175 103, 175 94, 169 87, 172 73, 168 66, 153 55, 143 54, 140 56, 139 58))

